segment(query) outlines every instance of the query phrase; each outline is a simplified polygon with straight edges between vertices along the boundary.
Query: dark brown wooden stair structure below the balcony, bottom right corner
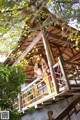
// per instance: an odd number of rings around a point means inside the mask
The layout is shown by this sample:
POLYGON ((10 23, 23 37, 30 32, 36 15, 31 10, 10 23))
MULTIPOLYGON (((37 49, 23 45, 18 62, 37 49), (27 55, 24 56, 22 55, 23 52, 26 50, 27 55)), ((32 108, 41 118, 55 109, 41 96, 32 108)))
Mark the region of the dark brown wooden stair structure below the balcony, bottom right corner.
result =
MULTIPOLYGON (((78 97, 77 99, 75 99, 70 105, 68 105, 67 108, 65 108, 63 111, 61 111, 61 113, 56 117, 53 118, 53 111, 48 111, 48 117, 49 120, 71 120, 71 116, 72 114, 78 114, 80 112, 80 108, 78 107, 80 103, 80 97, 78 97)), ((77 116, 75 115, 75 119, 77 120, 77 116)))

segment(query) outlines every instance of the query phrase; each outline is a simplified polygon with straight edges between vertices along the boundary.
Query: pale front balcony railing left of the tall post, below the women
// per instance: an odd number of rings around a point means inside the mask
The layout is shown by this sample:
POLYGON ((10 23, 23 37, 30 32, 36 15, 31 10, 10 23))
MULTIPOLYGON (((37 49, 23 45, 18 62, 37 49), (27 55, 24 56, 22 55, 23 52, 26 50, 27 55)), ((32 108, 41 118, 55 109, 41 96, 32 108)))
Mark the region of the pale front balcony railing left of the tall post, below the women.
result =
POLYGON ((50 99, 52 94, 55 94, 54 87, 48 89, 42 77, 37 78, 22 89, 21 94, 18 96, 18 102, 15 100, 14 107, 17 107, 16 109, 18 109, 19 112, 28 109, 28 107, 36 107, 37 104, 50 99))

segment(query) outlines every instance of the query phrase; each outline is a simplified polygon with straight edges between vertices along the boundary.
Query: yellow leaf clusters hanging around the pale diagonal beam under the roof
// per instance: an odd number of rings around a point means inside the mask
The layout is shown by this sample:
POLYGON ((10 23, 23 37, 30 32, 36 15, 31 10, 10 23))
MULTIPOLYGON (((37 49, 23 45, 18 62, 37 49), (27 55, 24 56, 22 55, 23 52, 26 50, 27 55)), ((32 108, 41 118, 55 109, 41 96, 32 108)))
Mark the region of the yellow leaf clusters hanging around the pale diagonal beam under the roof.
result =
MULTIPOLYGON (((35 63, 35 61, 39 61, 42 54, 37 54, 38 53, 38 48, 36 46, 34 46, 34 49, 32 49, 28 54, 27 54, 27 58, 30 59, 26 59, 24 57, 22 57, 20 59, 20 61, 17 63, 17 65, 21 66, 24 70, 25 68, 29 65, 29 62, 32 60, 33 63, 35 63)), ((18 50, 15 54, 11 54, 10 55, 10 60, 16 60, 20 55, 22 54, 22 52, 20 50, 18 50)))

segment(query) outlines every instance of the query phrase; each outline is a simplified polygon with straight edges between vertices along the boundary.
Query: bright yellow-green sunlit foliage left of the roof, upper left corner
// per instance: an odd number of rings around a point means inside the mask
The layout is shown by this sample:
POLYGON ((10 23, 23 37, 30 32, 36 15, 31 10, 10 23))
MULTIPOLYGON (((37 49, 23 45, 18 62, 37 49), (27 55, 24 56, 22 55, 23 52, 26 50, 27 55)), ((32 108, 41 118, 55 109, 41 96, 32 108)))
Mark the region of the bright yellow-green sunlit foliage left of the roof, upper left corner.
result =
POLYGON ((0 50, 10 52, 17 47, 20 34, 24 28, 24 8, 28 9, 26 0, 0 0, 0 50))

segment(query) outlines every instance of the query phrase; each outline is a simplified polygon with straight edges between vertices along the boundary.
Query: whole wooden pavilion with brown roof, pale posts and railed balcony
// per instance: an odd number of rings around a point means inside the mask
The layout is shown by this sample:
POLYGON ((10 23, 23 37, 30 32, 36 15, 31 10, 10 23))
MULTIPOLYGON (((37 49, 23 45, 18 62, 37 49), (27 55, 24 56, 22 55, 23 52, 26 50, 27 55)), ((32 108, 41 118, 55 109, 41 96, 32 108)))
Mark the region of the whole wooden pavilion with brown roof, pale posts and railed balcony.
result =
MULTIPOLYGON (((44 10, 44 9, 43 9, 44 10)), ((48 10, 50 19, 58 20, 48 10)), ((45 20, 43 20, 44 22, 45 20)), ((63 99, 65 96, 79 94, 80 92, 80 52, 76 51, 72 46, 73 42, 68 40, 69 34, 73 28, 63 24, 58 20, 58 25, 50 25, 45 32, 40 29, 40 24, 34 26, 34 37, 27 38, 27 31, 24 31, 18 48, 22 54, 12 61, 8 58, 5 63, 9 65, 17 64, 22 57, 29 61, 25 72, 28 79, 32 79, 31 83, 22 89, 21 94, 16 101, 15 106, 22 112, 28 107, 42 108, 45 105, 63 99), (26 35, 24 35, 24 33, 26 35), (34 59, 36 55, 42 55, 47 58, 48 66, 52 76, 52 84, 54 91, 49 94, 47 85, 43 84, 42 77, 35 79, 34 77, 34 59), (59 72, 55 69, 59 68, 59 72), (59 74, 59 78, 56 74, 59 74), (60 87, 58 81, 63 83, 60 87)), ((15 54, 18 49, 13 51, 15 54)), ((52 90, 51 90, 52 91, 52 90)))

